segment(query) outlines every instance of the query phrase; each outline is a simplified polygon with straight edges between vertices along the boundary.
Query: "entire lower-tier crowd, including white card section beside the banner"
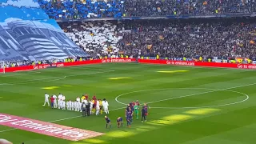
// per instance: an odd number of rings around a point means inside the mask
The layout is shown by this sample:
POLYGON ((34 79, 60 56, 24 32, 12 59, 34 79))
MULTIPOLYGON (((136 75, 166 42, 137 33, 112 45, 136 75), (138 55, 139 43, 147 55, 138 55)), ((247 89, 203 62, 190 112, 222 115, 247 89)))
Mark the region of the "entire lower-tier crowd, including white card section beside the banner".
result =
POLYGON ((92 55, 256 60, 256 23, 250 19, 149 20, 61 24, 92 55), (69 29, 69 30, 68 30, 69 29))

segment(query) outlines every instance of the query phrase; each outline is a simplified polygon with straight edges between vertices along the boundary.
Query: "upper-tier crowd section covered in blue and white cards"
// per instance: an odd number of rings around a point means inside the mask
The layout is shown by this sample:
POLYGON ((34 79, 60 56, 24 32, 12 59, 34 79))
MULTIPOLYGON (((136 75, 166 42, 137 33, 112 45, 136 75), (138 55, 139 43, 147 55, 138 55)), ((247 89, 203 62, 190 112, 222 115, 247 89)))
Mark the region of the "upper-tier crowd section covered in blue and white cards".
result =
POLYGON ((124 1, 120 0, 74 0, 72 1, 39 1, 42 9, 50 18, 102 18, 122 17, 124 1))

